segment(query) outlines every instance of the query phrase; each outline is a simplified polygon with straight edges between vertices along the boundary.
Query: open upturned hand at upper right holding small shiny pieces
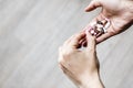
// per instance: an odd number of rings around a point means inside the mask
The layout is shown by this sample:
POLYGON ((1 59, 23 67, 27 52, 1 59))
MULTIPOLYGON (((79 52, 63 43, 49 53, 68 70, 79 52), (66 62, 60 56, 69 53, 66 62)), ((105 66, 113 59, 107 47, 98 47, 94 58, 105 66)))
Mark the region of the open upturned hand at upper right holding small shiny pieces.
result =
POLYGON ((85 11, 90 12, 99 7, 102 11, 94 20, 108 18, 111 20, 111 26, 108 33, 96 38, 98 43, 125 31, 133 24, 133 0, 92 0, 85 11))

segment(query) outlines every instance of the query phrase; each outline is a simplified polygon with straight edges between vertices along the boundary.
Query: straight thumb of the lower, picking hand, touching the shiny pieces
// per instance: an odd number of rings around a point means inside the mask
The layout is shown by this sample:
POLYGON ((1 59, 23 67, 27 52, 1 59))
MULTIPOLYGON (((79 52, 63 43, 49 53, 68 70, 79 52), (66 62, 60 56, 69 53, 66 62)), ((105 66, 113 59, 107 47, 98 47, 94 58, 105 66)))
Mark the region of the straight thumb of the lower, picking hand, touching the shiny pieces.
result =
POLYGON ((86 33, 86 42, 88 42, 86 50, 95 51, 95 46, 96 46, 95 36, 92 36, 89 32, 86 33))

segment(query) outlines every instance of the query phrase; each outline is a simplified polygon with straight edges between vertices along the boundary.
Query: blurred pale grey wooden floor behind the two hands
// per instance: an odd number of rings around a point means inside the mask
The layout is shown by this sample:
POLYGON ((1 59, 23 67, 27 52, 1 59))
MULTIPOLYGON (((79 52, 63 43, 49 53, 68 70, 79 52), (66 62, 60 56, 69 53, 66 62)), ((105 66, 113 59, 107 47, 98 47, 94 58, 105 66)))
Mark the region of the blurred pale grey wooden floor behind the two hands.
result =
MULTIPOLYGON (((0 0, 0 88, 75 88, 58 67, 58 47, 99 10, 90 0, 0 0)), ((106 88, 133 88, 133 28, 98 45, 106 88)))

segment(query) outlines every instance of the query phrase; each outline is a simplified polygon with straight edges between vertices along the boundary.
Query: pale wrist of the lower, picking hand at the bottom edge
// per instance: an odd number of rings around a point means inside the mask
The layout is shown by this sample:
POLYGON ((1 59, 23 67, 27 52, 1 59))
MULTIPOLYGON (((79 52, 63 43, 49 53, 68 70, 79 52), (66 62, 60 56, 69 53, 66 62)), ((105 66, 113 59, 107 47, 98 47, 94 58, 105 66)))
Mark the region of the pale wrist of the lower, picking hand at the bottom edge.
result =
POLYGON ((80 88, 104 88, 100 75, 98 73, 83 78, 83 82, 80 88))

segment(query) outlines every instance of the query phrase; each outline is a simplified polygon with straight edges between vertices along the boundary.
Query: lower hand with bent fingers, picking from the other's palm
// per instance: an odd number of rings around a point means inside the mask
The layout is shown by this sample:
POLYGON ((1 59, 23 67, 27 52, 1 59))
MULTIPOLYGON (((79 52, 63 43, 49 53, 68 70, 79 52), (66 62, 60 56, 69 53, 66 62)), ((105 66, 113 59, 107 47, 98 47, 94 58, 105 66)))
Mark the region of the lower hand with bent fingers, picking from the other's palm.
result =
POLYGON ((99 77, 95 37, 80 32, 71 36, 59 50, 59 65, 80 88, 103 88, 99 77), (86 37, 88 46, 80 51, 80 41, 86 37))

